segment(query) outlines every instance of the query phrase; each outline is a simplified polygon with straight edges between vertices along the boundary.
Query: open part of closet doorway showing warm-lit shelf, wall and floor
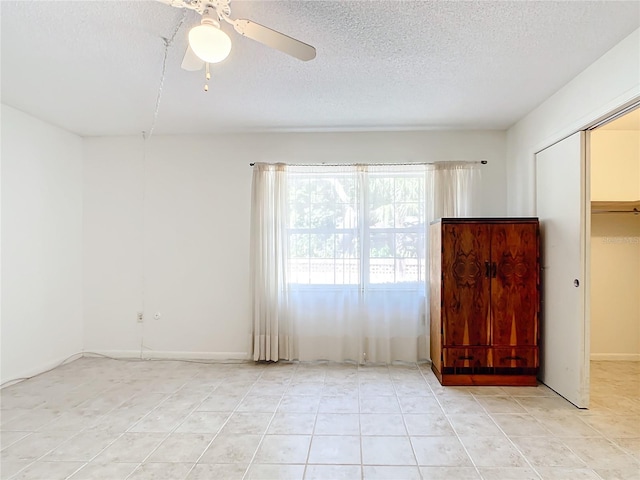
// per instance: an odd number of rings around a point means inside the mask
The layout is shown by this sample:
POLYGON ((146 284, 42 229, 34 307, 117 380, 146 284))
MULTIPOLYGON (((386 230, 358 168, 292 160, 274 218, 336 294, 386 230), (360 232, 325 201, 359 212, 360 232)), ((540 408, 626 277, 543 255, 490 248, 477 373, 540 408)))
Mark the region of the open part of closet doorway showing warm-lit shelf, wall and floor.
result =
POLYGON ((632 406, 640 378, 640 108, 589 132, 591 406, 632 406))

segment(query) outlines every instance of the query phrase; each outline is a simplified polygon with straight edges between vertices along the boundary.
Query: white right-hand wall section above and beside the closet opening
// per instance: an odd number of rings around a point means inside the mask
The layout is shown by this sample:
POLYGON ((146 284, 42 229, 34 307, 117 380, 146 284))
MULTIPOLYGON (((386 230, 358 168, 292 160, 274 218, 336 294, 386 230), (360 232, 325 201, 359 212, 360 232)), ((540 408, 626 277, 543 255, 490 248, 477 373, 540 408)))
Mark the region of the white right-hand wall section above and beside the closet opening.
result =
POLYGON ((508 213, 535 214, 537 151, 636 98, 640 98, 640 29, 507 131, 508 213))

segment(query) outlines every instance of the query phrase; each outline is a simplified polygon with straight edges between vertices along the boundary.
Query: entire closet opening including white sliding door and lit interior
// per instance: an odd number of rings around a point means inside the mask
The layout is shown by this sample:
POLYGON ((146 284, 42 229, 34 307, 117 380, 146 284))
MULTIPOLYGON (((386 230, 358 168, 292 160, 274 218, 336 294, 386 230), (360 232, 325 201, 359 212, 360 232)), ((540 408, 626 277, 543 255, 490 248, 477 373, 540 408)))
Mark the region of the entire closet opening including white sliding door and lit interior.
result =
POLYGON ((640 112, 635 107, 535 155, 542 250, 539 379, 580 408, 590 407, 591 394, 594 406, 633 408, 640 396, 640 112), (625 385, 629 390, 620 393, 625 385), (611 392, 619 396, 603 398, 611 392))

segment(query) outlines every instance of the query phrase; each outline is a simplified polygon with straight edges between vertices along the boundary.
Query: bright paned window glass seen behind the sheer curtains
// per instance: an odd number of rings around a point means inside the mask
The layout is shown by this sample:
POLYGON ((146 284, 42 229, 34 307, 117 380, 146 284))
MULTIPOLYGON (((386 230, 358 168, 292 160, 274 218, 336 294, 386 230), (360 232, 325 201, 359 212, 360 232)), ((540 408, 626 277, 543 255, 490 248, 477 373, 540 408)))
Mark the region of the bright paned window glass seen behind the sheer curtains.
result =
POLYGON ((291 167, 287 202, 289 284, 424 282, 424 168, 291 167))

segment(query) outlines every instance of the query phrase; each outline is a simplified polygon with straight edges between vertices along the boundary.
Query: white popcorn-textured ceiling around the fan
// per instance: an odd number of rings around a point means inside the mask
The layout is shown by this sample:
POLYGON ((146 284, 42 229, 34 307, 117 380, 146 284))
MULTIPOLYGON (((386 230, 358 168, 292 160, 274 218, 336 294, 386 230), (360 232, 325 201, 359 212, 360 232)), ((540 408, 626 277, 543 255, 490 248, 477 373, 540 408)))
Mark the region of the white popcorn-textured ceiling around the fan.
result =
MULTIPOLYGON (((154 125, 164 43, 183 10, 154 1, 0 2, 2 102, 80 135, 154 125)), ((310 43, 301 62, 236 34, 204 74, 168 52, 156 134, 504 129, 640 25, 637 1, 234 1, 310 43)))

